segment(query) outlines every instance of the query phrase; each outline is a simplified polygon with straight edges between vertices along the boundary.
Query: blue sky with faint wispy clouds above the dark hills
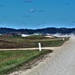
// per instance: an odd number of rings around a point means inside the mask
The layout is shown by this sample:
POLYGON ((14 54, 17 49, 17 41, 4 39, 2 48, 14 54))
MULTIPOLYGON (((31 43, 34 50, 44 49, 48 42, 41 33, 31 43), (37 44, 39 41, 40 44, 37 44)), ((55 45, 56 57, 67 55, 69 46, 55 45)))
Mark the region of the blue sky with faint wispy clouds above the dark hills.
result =
POLYGON ((75 0, 0 0, 0 27, 75 27, 75 0))

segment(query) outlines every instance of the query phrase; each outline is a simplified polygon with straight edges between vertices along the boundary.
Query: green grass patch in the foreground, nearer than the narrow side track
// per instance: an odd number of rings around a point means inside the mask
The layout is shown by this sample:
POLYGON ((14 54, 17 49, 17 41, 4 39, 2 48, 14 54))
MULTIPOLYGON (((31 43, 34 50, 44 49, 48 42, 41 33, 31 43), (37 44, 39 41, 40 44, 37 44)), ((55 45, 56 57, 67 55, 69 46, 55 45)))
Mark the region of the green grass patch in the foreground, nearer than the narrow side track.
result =
POLYGON ((29 61, 37 58, 41 54, 50 53, 50 50, 27 50, 27 51, 0 51, 0 75, 5 75, 14 71, 29 61))

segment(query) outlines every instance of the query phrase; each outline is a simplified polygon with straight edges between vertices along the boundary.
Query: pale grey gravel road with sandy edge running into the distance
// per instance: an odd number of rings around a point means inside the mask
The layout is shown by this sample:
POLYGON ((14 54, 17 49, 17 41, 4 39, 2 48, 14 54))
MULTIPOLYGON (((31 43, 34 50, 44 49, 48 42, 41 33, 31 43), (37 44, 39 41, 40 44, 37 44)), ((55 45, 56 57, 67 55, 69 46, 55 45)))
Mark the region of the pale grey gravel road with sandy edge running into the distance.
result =
POLYGON ((27 71, 17 71, 9 75, 75 75, 75 37, 27 71))

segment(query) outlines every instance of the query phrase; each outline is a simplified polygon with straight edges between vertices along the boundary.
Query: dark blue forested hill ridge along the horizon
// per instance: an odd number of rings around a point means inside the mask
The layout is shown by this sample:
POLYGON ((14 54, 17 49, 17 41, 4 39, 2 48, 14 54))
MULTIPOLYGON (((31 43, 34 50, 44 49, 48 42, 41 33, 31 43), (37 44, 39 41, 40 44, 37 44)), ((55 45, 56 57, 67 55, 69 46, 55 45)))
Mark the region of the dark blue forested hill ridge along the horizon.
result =
POLYGON ((42 29, 13 29, 13 28, 0 28, 0 34, 10 34, 10 33, 26 33, 26 34, 33 34, 33 33, 62 33, 62 34, 75 34, 75 28, 42 28, 42 29))

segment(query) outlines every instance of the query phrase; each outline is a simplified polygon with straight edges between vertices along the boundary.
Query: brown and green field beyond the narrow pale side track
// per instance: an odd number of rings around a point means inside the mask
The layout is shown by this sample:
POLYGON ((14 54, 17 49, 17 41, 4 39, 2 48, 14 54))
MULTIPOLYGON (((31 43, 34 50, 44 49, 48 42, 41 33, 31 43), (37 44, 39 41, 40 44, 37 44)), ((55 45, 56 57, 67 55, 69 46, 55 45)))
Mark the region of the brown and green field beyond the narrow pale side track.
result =
POLYGON ((25 38, 20 36, 0 36, 0 48, 33 48, 38 47, 39 42, 42 47, 54 47, 61 46, 64 41, 62 38, 45 36, 29 36, 25 38))

